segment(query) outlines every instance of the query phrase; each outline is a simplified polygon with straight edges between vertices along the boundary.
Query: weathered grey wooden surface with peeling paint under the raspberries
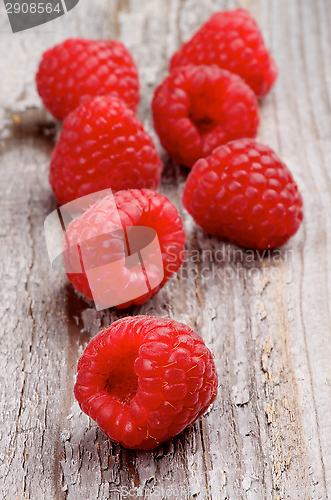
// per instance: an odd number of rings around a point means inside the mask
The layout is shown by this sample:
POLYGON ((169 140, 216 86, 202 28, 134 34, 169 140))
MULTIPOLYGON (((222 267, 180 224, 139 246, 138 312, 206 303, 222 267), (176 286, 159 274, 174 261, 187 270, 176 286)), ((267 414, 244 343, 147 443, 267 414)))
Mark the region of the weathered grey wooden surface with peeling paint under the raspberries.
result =
POLYGON ((330 0, 81 0, 17 34, 2 2, 0 14, 1 498, 329 498, 330 0), (118 37, 138 64, 139 116, 153 134, 151 97, 169 57, 212 12, 238 6, 254 15, 279 66, 260 102, 258 138, 292 170, 304 223, 281 252, 253 261, 192 222, 180 202, 187 170, 159 148, 160 191, 184 218, 186 263, 129 314, 191 325, 213 350, 221 386, 179 437, 128 451, 73 396, 84 347, 118 316, 97 313, 50 266, 43 222, 57 206, 47 174, 60 126, 43 110, 34 75, 42 52, 65 38, 118 37))

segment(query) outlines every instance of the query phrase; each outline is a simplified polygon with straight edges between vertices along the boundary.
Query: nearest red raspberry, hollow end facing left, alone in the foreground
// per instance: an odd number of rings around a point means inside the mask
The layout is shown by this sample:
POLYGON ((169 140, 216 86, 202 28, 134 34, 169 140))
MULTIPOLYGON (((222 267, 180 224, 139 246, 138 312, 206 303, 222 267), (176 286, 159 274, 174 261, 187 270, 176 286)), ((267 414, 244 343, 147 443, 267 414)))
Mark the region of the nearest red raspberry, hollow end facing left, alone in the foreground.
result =
POLYGON ((177 321, 115 321, 88 344, 74 392, 112 441, 150 450, 179 434, 215 400, 218 378, 202 338, 177 321))

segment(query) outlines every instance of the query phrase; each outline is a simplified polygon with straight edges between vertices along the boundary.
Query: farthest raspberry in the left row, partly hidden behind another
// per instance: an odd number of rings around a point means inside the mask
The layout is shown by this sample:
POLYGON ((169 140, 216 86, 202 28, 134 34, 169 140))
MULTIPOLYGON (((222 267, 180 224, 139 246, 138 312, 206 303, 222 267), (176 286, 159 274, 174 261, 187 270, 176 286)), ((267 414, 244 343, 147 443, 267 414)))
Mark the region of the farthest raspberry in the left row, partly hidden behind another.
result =
POLYGON ((36 75, 45 107, 63 120, 87 98, 111 94, 133 111, 139 102, 139 80, 130 52, 118 40, 70 38, 47 50, 36 75))

